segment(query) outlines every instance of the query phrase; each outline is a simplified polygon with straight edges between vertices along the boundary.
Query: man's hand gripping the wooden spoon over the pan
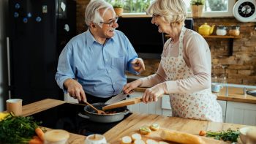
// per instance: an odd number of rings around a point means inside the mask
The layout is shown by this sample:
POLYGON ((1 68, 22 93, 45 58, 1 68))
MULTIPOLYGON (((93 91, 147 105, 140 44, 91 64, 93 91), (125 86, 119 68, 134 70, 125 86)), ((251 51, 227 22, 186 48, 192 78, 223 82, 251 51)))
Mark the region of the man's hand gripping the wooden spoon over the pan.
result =
POLYGON ((81 86, 77 80, 69 78, 64 81, 64 86, 67 88, 69 96, 72 96, 74 99, 78 99, 79 102, 87 102, 83 86, 81 86))

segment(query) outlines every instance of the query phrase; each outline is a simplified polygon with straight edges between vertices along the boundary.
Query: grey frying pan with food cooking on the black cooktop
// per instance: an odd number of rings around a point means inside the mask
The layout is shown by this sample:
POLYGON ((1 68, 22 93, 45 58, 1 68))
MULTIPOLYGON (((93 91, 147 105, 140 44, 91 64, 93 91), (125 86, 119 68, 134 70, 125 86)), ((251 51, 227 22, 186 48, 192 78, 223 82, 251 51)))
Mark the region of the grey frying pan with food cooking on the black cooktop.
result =
MULTIPOLYGON (((94 103, 91 104, 96 107, 98 110, 102 110, 102 107, 105 106, 104 103, 94 103)), ((129 113, 127 107, 118 107, 111 110, 105 110, 108 114, 98 114, 96 110, 91 108, 89 105, 84 107, 84 113, 78 113, 78 115, 82 118, 87 118, 90 121, 95 121, 99 123, 112 123, 116 121, 121 121, 124 118, 124 115, 129 113)))

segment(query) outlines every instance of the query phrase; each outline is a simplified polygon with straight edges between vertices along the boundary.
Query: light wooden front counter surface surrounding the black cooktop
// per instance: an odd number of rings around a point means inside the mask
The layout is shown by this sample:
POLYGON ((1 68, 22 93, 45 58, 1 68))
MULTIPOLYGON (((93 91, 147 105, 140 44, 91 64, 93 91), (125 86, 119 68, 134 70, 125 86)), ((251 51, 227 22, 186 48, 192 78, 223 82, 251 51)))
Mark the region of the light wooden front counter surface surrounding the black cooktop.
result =
MULTIPOLYGON (((44 99, 39 102, 24 105, 23 116, 32 115, 63 103, 65 102, 56 99, 44 99)), ((237 128, 244 127, 244 125, 240 124, 215 123, 211 121, 197 121, 187 118, 132 113, 132 115, 114 126, 113 129, 110 129, 104 135, 108 140, 108 143, 120 143, 119 139, 121 137, 135 132, 140 126, 151 125, 154 123, 160 124, 160 126, 165 127, 166 129, 175 129, 182 132, 189 132, 191 134, 198 134, 200 130, 219 131, 227 130, 229 128, 235 130, 237 128)), ((85 138, 86 137, 83 135, 70 133, 69 143, 83 143, 85 138)))

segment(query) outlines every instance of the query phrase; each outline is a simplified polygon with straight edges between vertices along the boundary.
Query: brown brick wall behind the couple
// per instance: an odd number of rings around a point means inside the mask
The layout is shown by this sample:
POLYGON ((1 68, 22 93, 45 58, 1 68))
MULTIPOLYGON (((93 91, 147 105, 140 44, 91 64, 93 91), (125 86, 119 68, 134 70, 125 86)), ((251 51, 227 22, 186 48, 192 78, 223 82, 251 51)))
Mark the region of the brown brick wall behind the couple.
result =
MULTIPOLYGON (((86 31, 84 12, 88 0, 77 0, 77 32, 86 31)), ((211 48, 214 72, 219 77, 224 73, 225 66, 227 83, 256 85, 256 30, 255 23, 240 23, 235 18, 195 18, 194 29, 203 23, 210 26, 240 26, 240 39, 233 39, 233 55, 229 56, 230 39, 206 38, 211 48)), ((216 34, 216 29, 214 29, 216 34)), ((154 74, 157 71, 159 60, 145 59, 146 72, 142 76, 154 74)))

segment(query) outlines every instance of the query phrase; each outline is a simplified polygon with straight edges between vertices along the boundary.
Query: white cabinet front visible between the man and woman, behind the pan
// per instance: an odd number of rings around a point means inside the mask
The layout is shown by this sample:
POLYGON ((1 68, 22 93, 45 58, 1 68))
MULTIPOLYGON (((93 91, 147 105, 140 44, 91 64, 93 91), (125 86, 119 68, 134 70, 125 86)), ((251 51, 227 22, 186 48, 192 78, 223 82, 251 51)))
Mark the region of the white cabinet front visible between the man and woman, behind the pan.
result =
MULTIPOLYGON (((130 98, 143 96, 143 92, 135 91, 129 96, 130 98)), ((161 103, 162 103, 161 99, 158 99, 157 102, 149 102, 148 104, 140 102, 135 105, 128 105, 127 107, 132 112, 162 115, 161 103)))

